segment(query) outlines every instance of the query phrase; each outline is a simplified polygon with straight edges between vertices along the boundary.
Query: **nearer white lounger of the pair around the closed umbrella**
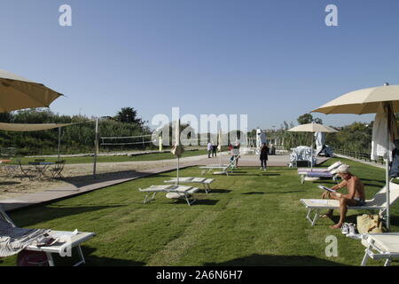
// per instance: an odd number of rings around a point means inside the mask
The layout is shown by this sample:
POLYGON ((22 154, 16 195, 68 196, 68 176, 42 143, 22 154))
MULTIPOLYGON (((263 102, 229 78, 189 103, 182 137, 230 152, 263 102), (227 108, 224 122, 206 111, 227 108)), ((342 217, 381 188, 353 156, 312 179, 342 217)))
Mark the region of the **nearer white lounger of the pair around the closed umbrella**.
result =
POLYGON ((187 201, 189 206, 192 205, 196 200, 192 197, 193 193, 198 192, 200 189, 197 187, 186 186, 186 185, 151 185, 145 189, 138 189, 142 193, 145 194, 144 203, 148 203, 155 199, 155 195, 157 193, 168 193, 167 197, 170 199, 184 199, 187 201), (153 193, 153 197, 148 199, 148 196, 153 193))

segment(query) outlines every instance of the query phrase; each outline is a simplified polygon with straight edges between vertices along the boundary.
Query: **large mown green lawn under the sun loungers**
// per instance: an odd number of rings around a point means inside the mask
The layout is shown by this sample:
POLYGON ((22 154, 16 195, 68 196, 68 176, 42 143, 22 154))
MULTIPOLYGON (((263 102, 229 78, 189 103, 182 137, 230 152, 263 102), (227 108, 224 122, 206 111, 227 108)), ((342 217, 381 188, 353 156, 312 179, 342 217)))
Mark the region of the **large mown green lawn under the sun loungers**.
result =
MULTIPOLYGON (((340 159, 344 161, 344 159, 340 159)), ((332 159, 324 166, 336 162, 332 159)), ((352 165, 371 197, 384 185, 384 170, 352 165)), ((200 176, 198 168, 181 175, 200 176)), ((331 230, 331 220, 312 227, 301 198, 319 198, 316 182, 301 185, 296 170, 240 168, 233 176, 215 176, 213 191, 196 194, 189 207, 159 193, 143 204, 139 187, 160 185, 176 172, 140 178, 50 205, 11 214, 17 225, 97 236, 84 243, 87 265, 359 265, 364 246, 331 230), (338 257, 325 256, 327 236, 338 239, 338 257)), ((322 184, 331 185, 332 180, 322 184)), ((399 204, 392 208, 392 231, 399 229, 399 204)), ((348 222, 364 211, 348 211, 348 222)), ((338 217, 338 212, 335 216, 338 217)), ((14 265, 16 257, 0 260, 14 265)), ((62 259, 66 261, 66 259, 62 259)), ((370 260, 369 264, 382 262, 370 260)), ((397 263, 393 263, 397 265, 397 263)))

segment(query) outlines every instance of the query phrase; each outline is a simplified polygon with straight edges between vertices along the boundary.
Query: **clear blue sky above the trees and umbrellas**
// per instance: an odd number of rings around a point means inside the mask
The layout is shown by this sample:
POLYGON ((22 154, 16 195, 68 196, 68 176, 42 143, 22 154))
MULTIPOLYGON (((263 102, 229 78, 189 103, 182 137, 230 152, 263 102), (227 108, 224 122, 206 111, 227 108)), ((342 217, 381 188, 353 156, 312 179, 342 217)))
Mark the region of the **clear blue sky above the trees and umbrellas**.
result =
MULTIPOLYGON (((66 94, 59 114, 248 114, 277 128, 331 99, 399 84, 399 1, 8 0, 4 69, 66 94), (59 26, 69 4, 73 26, 59 26), (325 25, 336 4, 339 27, 325 25)), ((340 126, 373 115, 314 114, 340 126)))

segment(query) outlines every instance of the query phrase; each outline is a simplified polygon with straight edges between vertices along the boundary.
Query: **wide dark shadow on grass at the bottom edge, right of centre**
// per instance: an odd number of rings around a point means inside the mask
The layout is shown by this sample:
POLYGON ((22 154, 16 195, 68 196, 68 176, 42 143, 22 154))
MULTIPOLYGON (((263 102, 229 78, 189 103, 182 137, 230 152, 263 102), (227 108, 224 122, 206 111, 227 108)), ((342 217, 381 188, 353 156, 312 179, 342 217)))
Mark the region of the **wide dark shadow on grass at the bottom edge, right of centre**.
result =
POLYGON ((205 266, 343 266, 315 256, 251 255, 224 263, 207 263, 205 266))

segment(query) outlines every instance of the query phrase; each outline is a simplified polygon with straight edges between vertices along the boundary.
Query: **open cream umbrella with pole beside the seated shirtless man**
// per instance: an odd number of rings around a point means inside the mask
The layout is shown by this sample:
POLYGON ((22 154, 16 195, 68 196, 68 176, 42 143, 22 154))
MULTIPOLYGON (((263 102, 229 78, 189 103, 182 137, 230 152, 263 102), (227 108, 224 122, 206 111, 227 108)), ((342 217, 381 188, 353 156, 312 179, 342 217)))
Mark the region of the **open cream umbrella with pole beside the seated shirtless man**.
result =
MULTIPOLYGON (((399 112, 399 85, 389 85, 352 91, 337 99, 326 103, 313 110, 313 113, 323 114, 376 114, 379 107, 384 106, 389 121, 389 114, 399 112)), ((389 125, 389 123, 387 123, 389 125)), ((387 126, 389 128, 389 126, 387 126)), ((387 130, 390 133, 390 130, 387 130)), ((390 138, 387 135, 387 149, 389 149, 390 138)), ((387 229, 390 227, 389 220, 389 155, 386 155, 386 186, 387 186, 387 229)))

